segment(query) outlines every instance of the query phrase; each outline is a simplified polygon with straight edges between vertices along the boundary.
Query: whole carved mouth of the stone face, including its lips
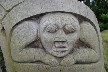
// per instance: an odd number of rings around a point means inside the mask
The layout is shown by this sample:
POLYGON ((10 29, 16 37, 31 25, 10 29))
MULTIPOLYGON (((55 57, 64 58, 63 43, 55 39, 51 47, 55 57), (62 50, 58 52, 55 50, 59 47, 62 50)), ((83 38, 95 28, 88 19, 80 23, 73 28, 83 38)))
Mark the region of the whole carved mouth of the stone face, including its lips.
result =
POLYGON ((54 50, 57 51, 57 52, 66 52, 68 50, 67 42, 55 41, 54 45, 55 45, 55 49, 54 50))

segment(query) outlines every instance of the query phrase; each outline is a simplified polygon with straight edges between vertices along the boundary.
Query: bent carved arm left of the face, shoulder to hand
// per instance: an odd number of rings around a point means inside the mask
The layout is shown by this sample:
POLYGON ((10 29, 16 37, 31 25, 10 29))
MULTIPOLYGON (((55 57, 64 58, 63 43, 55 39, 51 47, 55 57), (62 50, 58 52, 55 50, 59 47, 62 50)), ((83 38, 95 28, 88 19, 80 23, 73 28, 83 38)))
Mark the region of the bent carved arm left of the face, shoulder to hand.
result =
POLYGON ((54 57, 46 54, 42 49, 38 30, 38 24, 33 19, 21 22, 13 29, 11 37, 12 59, 22 63, 41 61, 52 66, 58 65, 53 62, 54 57), (46 60, 47 58, 49 59, 46 60))

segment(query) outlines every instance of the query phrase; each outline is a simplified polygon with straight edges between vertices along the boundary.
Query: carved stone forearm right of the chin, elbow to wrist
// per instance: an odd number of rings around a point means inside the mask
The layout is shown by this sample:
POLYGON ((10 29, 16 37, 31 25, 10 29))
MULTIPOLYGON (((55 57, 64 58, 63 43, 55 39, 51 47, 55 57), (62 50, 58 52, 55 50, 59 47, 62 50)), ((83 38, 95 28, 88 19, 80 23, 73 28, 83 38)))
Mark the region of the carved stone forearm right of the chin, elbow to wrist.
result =
POLYGON ((94 63, 99 60, 97 53, 90 48, 80 48, 73 53, 76 63, 94 63))

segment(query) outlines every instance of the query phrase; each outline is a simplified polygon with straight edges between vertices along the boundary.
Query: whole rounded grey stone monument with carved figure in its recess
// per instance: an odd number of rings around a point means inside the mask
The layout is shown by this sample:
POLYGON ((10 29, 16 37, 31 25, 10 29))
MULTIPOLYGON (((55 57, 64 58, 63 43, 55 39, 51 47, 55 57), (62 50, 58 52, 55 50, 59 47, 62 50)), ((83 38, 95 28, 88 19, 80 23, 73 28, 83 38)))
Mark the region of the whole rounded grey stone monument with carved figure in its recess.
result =
POLYGON ((83 3, 6 0, 1 7, 7 72, 105 72, 99 25, 83 3))

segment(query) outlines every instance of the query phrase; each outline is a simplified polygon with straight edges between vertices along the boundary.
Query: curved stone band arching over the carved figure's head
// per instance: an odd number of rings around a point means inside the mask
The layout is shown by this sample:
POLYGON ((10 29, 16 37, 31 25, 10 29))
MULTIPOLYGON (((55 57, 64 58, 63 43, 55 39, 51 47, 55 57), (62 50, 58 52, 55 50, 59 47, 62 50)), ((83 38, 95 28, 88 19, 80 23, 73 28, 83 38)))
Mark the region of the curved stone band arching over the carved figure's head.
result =
POLYGON ((50 12, 74 13, 90 20, 98 29, 99 25, 93 11, 78 0, 25 0, 14 7, 3 19, 2 24, 9 35, 12 27, 25 18, 50 12))

